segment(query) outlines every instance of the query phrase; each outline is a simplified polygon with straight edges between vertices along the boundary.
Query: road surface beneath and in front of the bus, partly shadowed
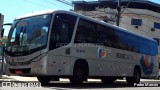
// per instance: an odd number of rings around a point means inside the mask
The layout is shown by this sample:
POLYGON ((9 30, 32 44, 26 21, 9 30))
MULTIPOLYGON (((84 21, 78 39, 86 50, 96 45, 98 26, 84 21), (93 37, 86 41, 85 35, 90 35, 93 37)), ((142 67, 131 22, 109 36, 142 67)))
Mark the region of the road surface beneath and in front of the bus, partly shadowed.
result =
POLYGON ((1 90, 160 90, 160 80, 142 79, 139 85, 128 85, 125 80, 117 80, 113 84, 103 84, 100 80, 90 79, 81 85, 71 84, 67 79, 60 79, 59 81, 51 81, 47 85, 37 85, 31 87, 2 87, 2 83, 38 83, 35 77, 3 77, 0 79, 1 90))

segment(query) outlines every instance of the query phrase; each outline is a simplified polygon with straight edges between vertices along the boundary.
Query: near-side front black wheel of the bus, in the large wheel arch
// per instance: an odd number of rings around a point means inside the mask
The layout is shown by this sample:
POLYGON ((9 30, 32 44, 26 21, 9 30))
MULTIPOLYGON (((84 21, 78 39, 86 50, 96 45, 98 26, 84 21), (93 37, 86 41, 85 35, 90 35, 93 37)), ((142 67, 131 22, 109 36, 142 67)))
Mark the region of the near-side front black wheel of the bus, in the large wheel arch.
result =
POLYGON ((81 84, 83 81, 87 79, 88 74, 84 67, 85 66, 83 66, 81 63, 75 64, 73 76, 69 78, 72 84, 81 84))

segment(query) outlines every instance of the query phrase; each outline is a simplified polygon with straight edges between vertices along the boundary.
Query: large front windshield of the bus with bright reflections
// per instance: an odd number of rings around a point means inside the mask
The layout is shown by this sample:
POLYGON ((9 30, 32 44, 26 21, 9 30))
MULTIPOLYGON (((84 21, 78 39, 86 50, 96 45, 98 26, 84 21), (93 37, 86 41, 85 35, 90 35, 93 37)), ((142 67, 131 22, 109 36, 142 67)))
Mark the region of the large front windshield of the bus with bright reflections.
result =
POLYGON ((52 15, 40 15, 15 20, 9 33, 6 50, 15 53, 45 47, 51 17, 52 15))

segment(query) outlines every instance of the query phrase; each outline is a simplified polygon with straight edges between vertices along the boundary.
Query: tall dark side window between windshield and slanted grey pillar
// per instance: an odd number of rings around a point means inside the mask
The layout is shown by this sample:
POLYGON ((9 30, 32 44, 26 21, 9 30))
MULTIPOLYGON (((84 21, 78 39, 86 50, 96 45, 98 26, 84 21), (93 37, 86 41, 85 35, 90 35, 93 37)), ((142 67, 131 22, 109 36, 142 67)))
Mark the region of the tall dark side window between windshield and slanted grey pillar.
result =
POLYGON ((76 23, 76 16, 56 14, 50 35, 50 50, 70 43, 76 23))

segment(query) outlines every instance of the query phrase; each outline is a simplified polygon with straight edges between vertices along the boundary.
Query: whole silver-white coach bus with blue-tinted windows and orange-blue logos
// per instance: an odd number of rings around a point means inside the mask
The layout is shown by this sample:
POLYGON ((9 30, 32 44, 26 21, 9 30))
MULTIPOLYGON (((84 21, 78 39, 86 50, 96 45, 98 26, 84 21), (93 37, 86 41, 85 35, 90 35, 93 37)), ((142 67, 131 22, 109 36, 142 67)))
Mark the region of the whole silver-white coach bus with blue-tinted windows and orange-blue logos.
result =
POLYGON ((139 83, 157 76, 157 54, 152 38, 70 11, 41 11, 14 20, 6 73, 36 76, 41 83, 52 78, 112 83, 124 77, 139 83))

